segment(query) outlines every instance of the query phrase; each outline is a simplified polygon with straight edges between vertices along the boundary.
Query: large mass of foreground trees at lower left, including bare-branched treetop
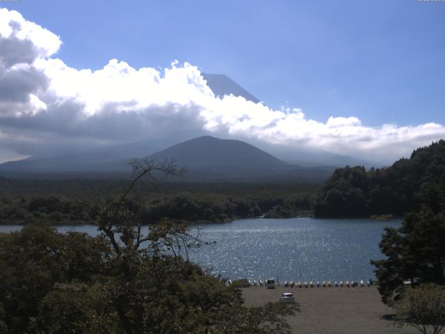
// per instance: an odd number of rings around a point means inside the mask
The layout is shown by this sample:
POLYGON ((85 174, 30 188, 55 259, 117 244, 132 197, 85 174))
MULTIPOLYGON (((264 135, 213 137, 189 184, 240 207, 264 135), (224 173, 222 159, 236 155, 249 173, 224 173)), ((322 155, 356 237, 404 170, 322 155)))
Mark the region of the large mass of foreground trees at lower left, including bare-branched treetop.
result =
POLYGON ((98 237, 42 224, 0 234, 0 333, 290 333, 296 305, 245 307, 239 288, 188 261, 201 241, 186 225, 147 228, 128 209, 135 184, 159 173, 181 170, 141 162, 119 198, 92 208, 98 237))

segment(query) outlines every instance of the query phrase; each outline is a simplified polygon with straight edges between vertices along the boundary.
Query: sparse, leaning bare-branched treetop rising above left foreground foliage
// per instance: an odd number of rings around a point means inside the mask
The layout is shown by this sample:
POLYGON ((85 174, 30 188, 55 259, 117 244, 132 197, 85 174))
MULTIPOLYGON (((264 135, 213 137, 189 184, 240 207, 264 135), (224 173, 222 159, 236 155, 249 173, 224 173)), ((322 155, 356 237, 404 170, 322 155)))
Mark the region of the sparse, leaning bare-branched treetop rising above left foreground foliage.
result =
POLYGON ((132 162, 133 173, 120 196, 113 200, 102 199, 99 209, 94 209, 96 224, 113 246, 116 255, 124 250, 151 251, 163 253, 169 251, 175 257, 185 255, 188 260, 188 248, 204 244, 199 230, 191 234, 184 221, 163 219, 157 222, 142 222, 136 212, 129 209, 131 193, 137 184, 144 180, 150 183, 163 182, 168 177, 184 177, 185 168, 180 168, 175 161, 136 160, 132 162), (144 225, 151 223, 149 228, 144 225), (143 232, 145 230, 145 232, 143 232), (142 246, 147 247, 142 247, 142 246), (144 248, 142 250, 142 248, 144 248))

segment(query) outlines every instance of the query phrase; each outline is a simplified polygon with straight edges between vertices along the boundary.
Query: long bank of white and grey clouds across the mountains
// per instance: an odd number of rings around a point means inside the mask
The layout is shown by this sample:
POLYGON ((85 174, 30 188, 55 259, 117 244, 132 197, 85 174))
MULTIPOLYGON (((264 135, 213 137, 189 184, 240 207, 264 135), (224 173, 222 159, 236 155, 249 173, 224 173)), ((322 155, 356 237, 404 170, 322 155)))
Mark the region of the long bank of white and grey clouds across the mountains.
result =
POLYGON ((189 63, 136 69, 111 59, 101 70, 78 70, 55 57, 61 45, 58 35, 0 8, 0 152, 19 156, 207 133, 391 160, 445 137, 445 127, 436 123, 368 127, 356 117, 318 122, 300 109, 216 97, 189 63))

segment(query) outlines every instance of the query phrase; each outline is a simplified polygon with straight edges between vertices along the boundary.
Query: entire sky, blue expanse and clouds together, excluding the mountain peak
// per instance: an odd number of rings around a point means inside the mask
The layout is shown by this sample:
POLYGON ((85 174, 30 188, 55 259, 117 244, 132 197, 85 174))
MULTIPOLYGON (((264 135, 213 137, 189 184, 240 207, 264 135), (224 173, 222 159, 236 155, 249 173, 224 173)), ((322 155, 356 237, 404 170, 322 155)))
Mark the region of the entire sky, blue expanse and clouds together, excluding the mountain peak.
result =
POLYGON ((445 137, 445 1, 0 8, 0 162, 176 132, 391 161, 445 137), (214 97, 201 72, 264 103, 214 97))

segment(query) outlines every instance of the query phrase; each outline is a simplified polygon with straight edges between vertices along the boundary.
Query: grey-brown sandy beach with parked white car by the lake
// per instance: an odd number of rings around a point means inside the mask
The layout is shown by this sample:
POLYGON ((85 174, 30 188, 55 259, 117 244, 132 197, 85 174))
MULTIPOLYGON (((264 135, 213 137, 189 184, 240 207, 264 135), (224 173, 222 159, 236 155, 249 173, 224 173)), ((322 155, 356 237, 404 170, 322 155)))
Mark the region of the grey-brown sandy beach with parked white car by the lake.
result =
POLYGON ((277 286, 243 288, 245 305, 278 301, 282 292, 291 292, 301 312, 289 317, 292 333, 298 334, 411 334, 414 328, 396 328, 389 317, 393 313, 380 301, 376 287, 277 286))

